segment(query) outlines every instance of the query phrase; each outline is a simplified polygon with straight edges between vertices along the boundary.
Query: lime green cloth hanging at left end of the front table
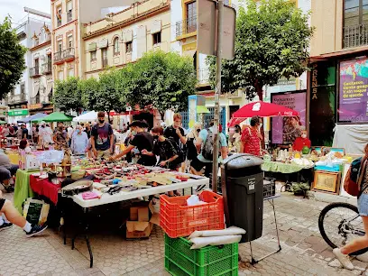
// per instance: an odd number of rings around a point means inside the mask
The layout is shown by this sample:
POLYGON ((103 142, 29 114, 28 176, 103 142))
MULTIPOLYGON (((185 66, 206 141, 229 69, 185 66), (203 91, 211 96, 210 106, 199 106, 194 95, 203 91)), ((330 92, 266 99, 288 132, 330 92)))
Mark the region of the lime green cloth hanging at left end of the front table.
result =
POLYGON ((17 170, 14 188, 14 207, 23 214, 22 204, 25 199, 33 197, 33 191, 30 187, 30 176, 35 170, 17 170))

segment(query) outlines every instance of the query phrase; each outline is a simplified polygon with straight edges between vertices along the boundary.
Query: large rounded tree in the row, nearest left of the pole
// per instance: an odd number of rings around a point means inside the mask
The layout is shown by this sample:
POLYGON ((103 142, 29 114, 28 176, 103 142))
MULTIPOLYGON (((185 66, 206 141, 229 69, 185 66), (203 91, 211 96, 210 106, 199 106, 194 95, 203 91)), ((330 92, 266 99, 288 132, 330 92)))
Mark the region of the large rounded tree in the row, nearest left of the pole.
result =
POLYGON ((189 95, 196 91, 192 60, 176 52, 150 51, 124 73, 130 78, 124 87, 129 89, 125 100, 131 106, 153 106, 161 114, 167 109, 186 109, 189 95))

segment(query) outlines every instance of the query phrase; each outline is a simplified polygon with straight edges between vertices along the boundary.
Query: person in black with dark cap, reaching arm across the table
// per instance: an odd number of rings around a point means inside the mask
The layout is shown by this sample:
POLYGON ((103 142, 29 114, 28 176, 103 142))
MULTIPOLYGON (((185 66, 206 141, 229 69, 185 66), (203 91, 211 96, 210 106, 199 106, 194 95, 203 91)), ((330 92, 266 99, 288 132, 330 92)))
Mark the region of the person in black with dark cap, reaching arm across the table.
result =
POLYGON ((129 127, 133 134, 133 139, 130 141, 129 145, 123 152, 111 157, 110 160, 119 159, 125 156, 127 153, 133 151, 133 149, 136 149, 137 152, 139 152, 137 154, 140 156, 137 161, 138 164, 144 166, 154 166, 157 162, 156 156, 143 154, 145 152, 153 151, 152 134, 144 130, 149 127, 148 124, 142 121, 134 121, 132 124, 129 125, 129 127))

